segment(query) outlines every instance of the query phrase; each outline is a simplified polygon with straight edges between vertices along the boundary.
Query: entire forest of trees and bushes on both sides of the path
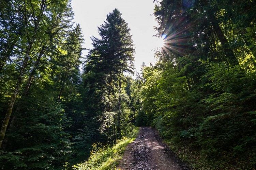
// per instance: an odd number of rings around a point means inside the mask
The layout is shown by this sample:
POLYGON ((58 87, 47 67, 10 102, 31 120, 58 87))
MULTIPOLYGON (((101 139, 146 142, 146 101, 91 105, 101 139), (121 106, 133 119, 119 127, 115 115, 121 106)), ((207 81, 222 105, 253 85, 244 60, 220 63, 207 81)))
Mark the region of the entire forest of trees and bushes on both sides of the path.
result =
POLYGON ((134 72, 117 8, 82 55, 70 0, 0 0, 0 169, 76 169, 136 126, 192 169, 256 169, 256 1, 152 3, 163 46, 134 72))

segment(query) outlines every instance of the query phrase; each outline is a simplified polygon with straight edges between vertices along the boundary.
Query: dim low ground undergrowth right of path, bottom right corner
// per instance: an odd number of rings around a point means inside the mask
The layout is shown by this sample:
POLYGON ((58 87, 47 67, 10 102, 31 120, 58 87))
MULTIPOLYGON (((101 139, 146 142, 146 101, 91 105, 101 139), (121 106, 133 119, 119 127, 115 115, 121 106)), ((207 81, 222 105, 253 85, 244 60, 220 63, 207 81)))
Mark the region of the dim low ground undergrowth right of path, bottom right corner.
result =
MULTIPOLYGON (((220 152, 219 156, 214 158, 204 154, 204 150, 198 149, 187 145, 186 142, 180 139, 164 140, 167 146, 182 160, 182 162, 188 164, 192 169, 197 170, 249 170, 254 169, 249 159, 245 159, 245 156, 234 157, 232 153, 220 152), (176 140, 179 140, 177 142, 176 140)), ((245 154, 249 155, 250 151, 245 154)))

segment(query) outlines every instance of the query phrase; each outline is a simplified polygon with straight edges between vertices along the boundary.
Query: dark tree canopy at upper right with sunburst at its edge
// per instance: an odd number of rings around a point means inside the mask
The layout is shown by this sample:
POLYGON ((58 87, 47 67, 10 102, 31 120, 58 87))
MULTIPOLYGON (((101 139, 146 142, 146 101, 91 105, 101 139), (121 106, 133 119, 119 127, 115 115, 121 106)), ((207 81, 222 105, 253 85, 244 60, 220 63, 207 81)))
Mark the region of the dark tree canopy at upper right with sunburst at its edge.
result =
MULTIPOLYGON (((155 17, 159 23, 159 35, 166 34, 166 48, 180 55, 209 52, 210 60, 227 61, 238 65, 234 47, 224 34, 219 9, 215 2, 164 0, 155 7, 155 17), (176 22, 175 22, 176 21, 176 22), (214 32, 214 34, 213 34, 214 32), (205 38, 201 38, 205 36, 205 38), (221 46, 218 46, 220 42, 221 46), (216 50, 210 49, 213 46, 216 50)), ((201 54, 199 54, 201 57, 201 54)))

